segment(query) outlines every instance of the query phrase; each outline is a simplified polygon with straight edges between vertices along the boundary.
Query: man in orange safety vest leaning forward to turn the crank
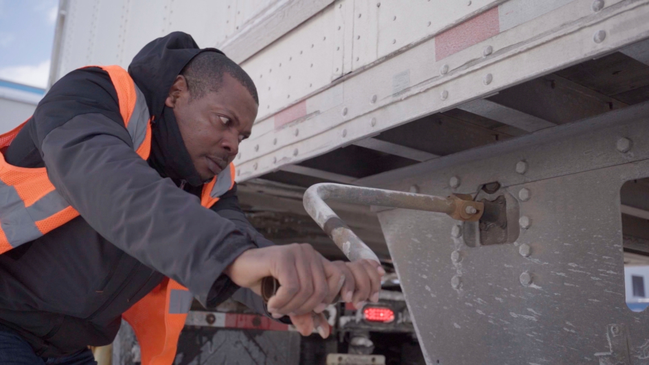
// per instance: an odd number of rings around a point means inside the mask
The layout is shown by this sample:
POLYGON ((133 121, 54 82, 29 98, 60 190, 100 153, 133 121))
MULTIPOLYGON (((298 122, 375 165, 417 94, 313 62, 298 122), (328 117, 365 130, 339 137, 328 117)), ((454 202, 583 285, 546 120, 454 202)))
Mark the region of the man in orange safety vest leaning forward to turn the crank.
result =
POLYGON ((93 364, 87 346, 111 343, 123 314, 137 324, 162 296, 163 322, 177 319, 184 287, 206 307, 234 294, 323 337, 321 312, 339 293, 378 301, 378 263, 273 246, 247 222, 231 161, 258 104, 238 65, 176 32, 146 45, 128 74, 65 75, 0 137, 1 364, 93 364), (267 307, 264 276, 282 285, 267 307))

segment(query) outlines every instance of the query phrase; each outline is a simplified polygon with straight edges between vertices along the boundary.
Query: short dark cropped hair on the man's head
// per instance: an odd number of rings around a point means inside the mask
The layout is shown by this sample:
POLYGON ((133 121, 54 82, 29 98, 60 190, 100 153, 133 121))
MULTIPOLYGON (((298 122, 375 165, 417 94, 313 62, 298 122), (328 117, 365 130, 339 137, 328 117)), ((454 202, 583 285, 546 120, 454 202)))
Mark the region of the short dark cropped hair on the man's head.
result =
POLYGON ((219 91, 223 85, 223 74, 231 75, 240 82, 259 105, 257 88, 250 76, 243 69, 225 55, 218 52, 205 51, 196 55, 187 63, 181 75, 187 80, 187 89, 192 99, 201 99, 207 95, 219 91))

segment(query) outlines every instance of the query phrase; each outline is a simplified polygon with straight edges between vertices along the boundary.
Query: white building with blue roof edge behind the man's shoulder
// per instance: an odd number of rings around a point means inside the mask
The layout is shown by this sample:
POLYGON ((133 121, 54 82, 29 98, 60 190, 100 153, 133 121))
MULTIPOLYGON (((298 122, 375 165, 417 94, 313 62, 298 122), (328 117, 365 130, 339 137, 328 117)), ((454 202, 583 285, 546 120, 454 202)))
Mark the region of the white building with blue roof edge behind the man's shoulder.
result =
POLYGON ((8 132, 29 118, 45 89, 0 80, 0 133, 8 132))

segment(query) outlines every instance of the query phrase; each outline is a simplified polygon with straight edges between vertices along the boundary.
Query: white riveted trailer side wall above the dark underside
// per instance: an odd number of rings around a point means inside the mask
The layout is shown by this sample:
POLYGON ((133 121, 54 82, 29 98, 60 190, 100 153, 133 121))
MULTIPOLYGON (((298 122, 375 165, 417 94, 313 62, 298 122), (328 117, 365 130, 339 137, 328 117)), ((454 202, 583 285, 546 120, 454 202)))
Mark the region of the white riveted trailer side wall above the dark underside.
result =
POLYGON ((291 169, 649 36, 648 0, 61 4, 54 79, 87 64, 126 67, 174 30, 241 62, 258 86, 260 113, 240 148, 238 180, 291 169))

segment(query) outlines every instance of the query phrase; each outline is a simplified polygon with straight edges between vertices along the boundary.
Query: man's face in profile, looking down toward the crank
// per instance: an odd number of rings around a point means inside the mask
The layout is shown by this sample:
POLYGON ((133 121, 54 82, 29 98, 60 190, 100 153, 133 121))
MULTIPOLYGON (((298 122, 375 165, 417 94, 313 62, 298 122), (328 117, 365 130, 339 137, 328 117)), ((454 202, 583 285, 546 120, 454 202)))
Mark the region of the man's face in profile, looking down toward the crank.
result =
POLYGON ((257 103, 247 89, 225 73, 219 91, 196 99, 179 75, 165 102, 174 109, 187 152, 203 180, 223 171, 239 152, 239 143, 250 136, 257 103))

